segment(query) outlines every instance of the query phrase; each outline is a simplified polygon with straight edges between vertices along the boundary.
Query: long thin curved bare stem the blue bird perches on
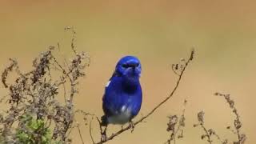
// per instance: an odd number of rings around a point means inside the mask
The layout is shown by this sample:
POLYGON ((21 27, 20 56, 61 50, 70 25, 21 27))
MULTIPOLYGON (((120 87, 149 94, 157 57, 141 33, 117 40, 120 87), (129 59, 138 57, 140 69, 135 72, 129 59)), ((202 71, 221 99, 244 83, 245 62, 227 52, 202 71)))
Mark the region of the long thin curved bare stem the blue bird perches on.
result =
MULTIPOLYGON (((145 116, 143 116, 142 118, 140 118, 137 122, 134 122, 134 126, 138 125, 139 123, 143 122, 146 118, 150 117, 151 114, 154 114, 155 110, 158 110, 158 108, 160 106, 162 106, 164 103, 166 103, 170 98, 173 97, 175 91, 178 89, 179 83, 182 80, 182 76, 186 70, 186 67, 189 65, 189 63, 193 60, 194 58, 194 50, 191 51, 190 53, 190 58, 186 61, 185 66, 183 67, 182 71, 180 74, 178 74, 178 81, 176 82, 176 85, 174 86, 174 89, 170 92, 169 96, 166 97, 164 100, 162 100, 162 102, 160 102, 157 106, 154 107, 153 110, 150 110, 150 112, 148 114, 146 114, 145 116)), ((110 137, 107 137, 104 140, 101 140, 100 142, 94 142, 94 144, 102 144, 105 142, 110 141, 111 139, 117 137, 119 134, 122 134, 123 132, 125 132, 126 130, 130 130, 130 126, 126 126, 125 128, 122 128, 121 130, 118 130, 116 133, 111 134, 110 137)))

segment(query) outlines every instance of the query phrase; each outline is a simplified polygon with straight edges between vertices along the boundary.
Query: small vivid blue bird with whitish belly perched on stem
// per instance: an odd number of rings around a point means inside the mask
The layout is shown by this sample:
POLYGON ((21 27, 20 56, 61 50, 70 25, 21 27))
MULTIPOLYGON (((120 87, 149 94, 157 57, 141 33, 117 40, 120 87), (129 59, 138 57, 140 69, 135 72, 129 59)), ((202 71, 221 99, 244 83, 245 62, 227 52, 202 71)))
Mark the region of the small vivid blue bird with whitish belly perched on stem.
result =
POLYGON ((141 63, 134 56, 118 61, 102 98, 102 126, 110 123, 123 125, 138 114, 142 106, 141 71, 141 63))

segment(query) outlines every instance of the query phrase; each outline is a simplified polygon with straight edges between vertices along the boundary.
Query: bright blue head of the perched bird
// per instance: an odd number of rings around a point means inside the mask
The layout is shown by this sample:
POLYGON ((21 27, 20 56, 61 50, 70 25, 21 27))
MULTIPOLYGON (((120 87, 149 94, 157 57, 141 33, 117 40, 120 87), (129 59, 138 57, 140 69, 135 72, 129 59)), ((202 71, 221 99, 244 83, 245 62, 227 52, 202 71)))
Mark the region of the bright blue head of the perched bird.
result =
POLYGON ((138 58, 126 56, 118 61, 115 72, 124 78, 138 79, 142 72, 142 66, 138 58))

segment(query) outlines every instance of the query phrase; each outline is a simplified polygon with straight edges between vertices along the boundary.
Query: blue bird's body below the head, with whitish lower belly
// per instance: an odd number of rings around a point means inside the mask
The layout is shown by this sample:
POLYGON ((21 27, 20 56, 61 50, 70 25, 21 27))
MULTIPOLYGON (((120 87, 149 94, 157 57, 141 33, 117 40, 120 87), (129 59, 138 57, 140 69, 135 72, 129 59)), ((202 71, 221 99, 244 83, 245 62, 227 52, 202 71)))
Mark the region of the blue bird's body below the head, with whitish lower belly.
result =
POLYGON ((139 80, 134 78, 130 82, 127 82, 127 79, 122 76, 110 78, 102 99, 108 123, 124 124, 129 122, 141 109, 142 88, 139 80))

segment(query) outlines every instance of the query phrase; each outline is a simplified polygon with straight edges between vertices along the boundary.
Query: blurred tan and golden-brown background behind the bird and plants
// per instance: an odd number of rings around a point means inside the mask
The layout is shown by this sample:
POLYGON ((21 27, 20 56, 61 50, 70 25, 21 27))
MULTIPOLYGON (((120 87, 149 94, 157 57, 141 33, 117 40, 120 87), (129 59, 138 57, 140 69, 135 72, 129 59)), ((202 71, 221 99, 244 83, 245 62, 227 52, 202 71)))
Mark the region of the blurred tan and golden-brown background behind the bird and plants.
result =
MULTIPOLYGON (((174 87, 176 75, 172 63, 187 58, 194 47, 194 62, 182 83, 165 106, 133 134, 126 132, 108 143, 166 142, 166 118, 181 114, 186 98, 185 138, 179 144, 206 143, 202 130, 193 128, 199 110, 206 112, 206 126, 222 138, 235 138, 226 126, 234 116, 223 98, 214 92, 231 94, 241 115, 242 132, 248 144, 256 142, 255 72, 256 72, 256 2, 254 1, 173 1, 173 0, 0 0, 0 70, 8 58, 17 58, 22 70, 31 68, 32 60, 50 45, 60 42, 70 53, 70 34, 65 26, 77 31, 78 50, 92 59, 86 78, 76 98, 77 108, 102 115, 104 86, 119 58, 138 56, 142 62, 143 103, 146 114, 174 87)), ((1 86, 3 89, 3 86, 1 86)), ((0 91, 0 93, 3 93, 0 91)), ((79 118, 78 118, 79 119, 79 118)), ((81 119, 79 119, 81 120, 81 119)), ((81 120, 82 122, 82 120, 81 120)), ((97 122, 94 138, 98 139, 97 122)), ((120 126, 111 126, 110 134, 120 126)), ((88 126, 82 126, 90 143, 88 126)), ((81 143, 77 132, 74 143, 81 143)))

